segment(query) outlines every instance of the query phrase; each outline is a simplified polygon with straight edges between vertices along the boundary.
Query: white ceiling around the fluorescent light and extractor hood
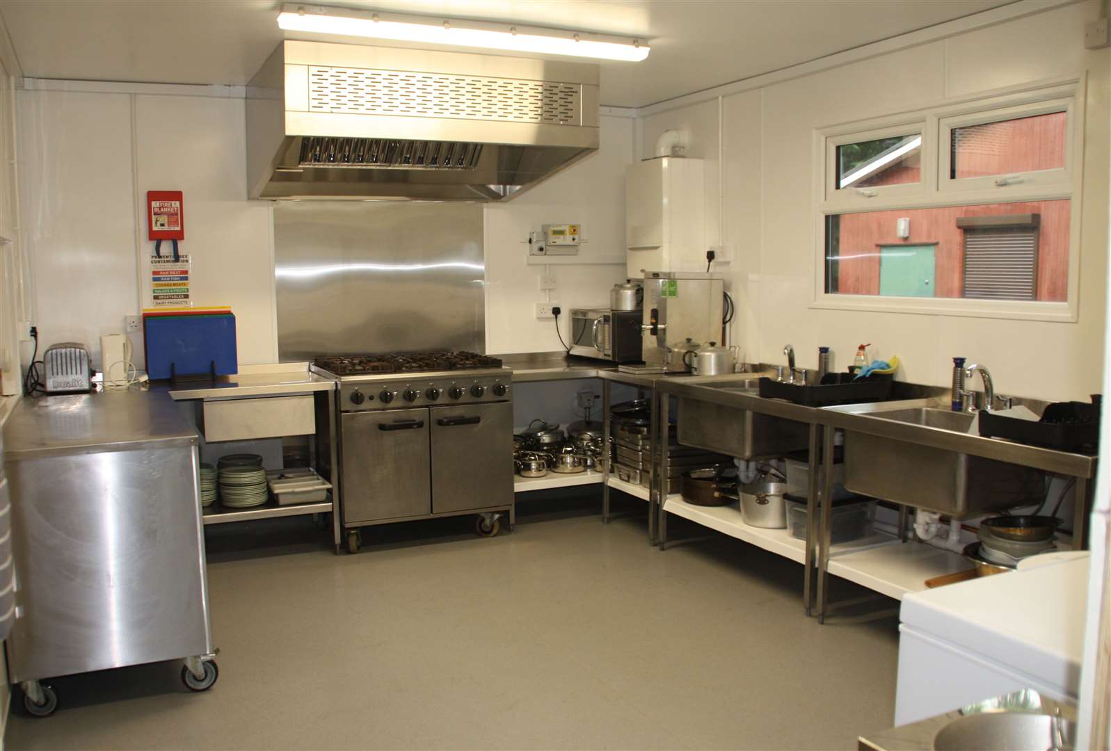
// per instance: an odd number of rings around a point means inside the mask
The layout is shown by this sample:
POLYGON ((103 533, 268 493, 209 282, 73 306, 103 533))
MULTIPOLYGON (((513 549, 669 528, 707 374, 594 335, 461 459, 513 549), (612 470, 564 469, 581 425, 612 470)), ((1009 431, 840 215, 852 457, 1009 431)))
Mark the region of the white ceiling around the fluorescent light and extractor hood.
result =
MULTIPOLYGON (((383 0, 388 11, 650 40, 602 63, 602 103, 643 107, 1009 0, 383 0)), ((242 84, 282 39, 272 0, 0 0, 24 76, 242 84)), ((290 34, 294 38, 296 34, 290 34)))

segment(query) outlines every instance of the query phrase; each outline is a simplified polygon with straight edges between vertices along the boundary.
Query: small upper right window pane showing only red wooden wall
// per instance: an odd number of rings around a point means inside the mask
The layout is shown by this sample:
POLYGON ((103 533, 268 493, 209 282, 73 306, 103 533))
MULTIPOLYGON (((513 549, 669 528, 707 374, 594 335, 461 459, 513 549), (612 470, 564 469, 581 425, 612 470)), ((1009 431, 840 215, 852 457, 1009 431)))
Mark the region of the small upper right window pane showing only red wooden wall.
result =
POLYGON ((953 128, 951 178, 1064 167, 1064 112, 953 128))

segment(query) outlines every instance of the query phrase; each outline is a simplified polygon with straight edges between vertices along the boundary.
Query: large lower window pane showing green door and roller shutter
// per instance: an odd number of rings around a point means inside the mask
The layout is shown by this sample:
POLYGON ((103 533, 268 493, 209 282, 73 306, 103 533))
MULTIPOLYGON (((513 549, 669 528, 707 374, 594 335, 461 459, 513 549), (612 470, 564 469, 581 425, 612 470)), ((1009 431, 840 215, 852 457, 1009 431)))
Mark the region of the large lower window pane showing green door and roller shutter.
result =
POLYGON ((825 291, 1063 302, 1070 209, 1064 199, 829 216, 825 291))

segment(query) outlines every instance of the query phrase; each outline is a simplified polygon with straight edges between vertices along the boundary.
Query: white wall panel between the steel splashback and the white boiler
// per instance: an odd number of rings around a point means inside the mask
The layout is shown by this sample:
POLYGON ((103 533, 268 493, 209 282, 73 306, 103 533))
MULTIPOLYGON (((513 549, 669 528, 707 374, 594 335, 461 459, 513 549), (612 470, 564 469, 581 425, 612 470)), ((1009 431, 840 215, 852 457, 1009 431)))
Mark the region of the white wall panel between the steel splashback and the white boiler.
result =
MULTIPOLYGON (((601 148, 502 206, 486 209, 487 351, 544 352, 560 349, 556 324, 538 321, 536 303, 544 301, 540 277, 544 267, 526 263, 530 230, 541 224, 582 224, 582 258, 624 251, 624 169, 633 156, 633 121, 601 119, 601 148)), ((568 338, 570 308, 609 306, 609 290, 624 278, 618 264, 551 266, 556 289, 551 299, 568 338)))

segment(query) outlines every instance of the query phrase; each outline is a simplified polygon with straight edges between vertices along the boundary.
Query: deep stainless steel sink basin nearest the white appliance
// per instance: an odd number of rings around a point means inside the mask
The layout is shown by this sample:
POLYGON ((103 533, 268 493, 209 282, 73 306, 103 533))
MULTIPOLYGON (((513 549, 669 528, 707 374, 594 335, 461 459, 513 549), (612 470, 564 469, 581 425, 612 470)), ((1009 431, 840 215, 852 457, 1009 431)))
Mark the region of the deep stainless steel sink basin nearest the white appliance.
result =
POLYGON ((975 414, 935 407, 900 409, 891 402, 844 408, 849 410, 860 420, 901 423, 895 434, 885 435, 845 428, 849 490, 959 518, 1037 502, 1045 494, 1039 470, 939 445, 939 431, 979 438, 975 414))

